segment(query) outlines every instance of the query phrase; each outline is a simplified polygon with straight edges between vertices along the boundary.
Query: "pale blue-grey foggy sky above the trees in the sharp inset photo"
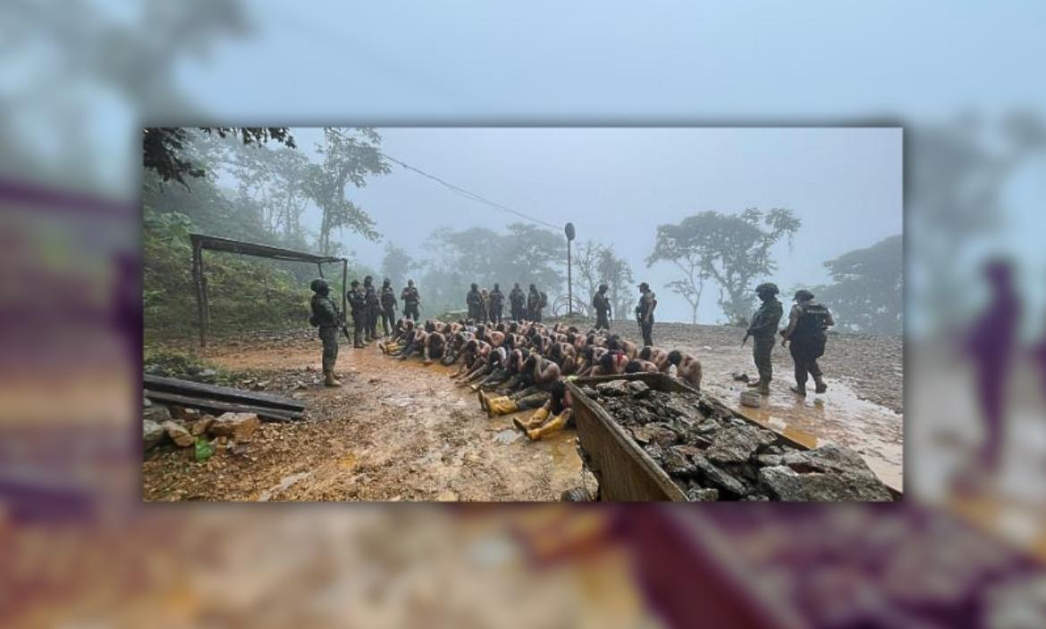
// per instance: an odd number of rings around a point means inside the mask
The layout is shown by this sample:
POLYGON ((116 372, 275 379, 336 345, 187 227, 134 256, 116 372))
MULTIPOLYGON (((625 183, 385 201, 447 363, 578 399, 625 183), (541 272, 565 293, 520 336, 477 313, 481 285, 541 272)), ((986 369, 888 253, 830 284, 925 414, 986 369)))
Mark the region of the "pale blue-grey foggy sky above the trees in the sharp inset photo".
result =
MULTIPOLYGON (((411 166, 553 225, 570 220, 576 242, 612 246, 632 264, 636 282, 650 282, 658 294, 661 321, 689 321, 689 306, 664 288, 678 275, 673 266, 644 263, 660 224, 705 210, 794 210, 803 227, 791 252, 786 243, 774 249, 778 271, 768 278, 782 290, 827 282, 825 260, 903 229, 900 129, 378 131, 383 150, 411 166)), ((318 159, 313 153, 322 131, 294 129, 294 135, 299 148, 318 159)), ((503 230, 518 220, 400 166, 347 194, 376 220, 383 239, 368 242, 346 230, 341 240, 373 269, 386 240, 424 257, 422 246, 437 227, 503 230)), ((318 217, 310 207, 306 228, 315 231, 318 217)), ((700 322, 723 319, 717 297, 718 286, 706 283, 700 322)))

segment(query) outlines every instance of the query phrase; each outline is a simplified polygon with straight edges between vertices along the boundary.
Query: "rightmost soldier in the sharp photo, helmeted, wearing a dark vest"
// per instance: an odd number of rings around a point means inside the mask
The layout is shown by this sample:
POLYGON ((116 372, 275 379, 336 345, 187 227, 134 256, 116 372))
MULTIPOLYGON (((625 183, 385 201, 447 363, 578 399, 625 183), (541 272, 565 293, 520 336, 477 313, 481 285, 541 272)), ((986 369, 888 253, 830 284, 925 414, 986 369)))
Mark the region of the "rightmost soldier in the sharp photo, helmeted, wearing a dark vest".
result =
POLYGON ((806 374, 814 376, 816 393, 824 393, 828 386, 824 383, 821 368, 817 359, 824 355, 824 345, 827 342, 827 330, 836 325, 832 312, 814 301, 814 294, 805 288, 795 292, 795 305, 789 312, 788 327, 781 330, 781 347, 791 342, 792 360, 795 363, 795 387, 792 392, 806 395, 806 374))

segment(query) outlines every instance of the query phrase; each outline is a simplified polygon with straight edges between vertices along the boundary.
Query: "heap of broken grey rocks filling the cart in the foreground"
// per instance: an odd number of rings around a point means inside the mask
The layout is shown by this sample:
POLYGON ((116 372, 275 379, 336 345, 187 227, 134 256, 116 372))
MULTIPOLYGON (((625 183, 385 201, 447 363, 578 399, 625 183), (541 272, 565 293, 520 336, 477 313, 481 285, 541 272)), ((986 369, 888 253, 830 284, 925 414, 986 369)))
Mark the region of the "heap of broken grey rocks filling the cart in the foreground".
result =
POLYGON ((691 500, 892 499, 854 450, 795 448, 707 394, 663 393, 637 380, 600 382, 584 392, 691 500))

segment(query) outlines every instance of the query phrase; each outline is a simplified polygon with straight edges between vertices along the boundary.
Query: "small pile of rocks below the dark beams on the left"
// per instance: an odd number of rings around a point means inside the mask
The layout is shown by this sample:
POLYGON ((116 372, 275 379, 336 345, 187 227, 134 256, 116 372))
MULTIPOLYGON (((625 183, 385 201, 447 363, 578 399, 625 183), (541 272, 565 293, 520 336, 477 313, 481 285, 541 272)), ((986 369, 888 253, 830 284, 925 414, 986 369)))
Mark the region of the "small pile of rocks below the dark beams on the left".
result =
POLYGON ((214 440, 219 445, 247 443, 260 424, 253 413, 223 413, 215 417, 158 404, 145 406, 142 416, 145 451, 162 443, 192 447, 201 437, 214 440))

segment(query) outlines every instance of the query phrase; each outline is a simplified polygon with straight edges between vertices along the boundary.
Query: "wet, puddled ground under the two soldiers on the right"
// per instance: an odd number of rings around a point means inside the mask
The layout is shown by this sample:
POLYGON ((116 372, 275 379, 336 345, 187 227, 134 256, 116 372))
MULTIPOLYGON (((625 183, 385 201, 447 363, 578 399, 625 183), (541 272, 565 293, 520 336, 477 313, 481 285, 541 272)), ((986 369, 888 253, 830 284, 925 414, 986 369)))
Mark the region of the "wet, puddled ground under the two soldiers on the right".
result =
MULTIPOLYGON (((629 335, 629 330, 623 333, 629 335)), ((778 344, 772 356, 774 380, 764 406, 741 404, 745 382, 732 374, 757 378, 752 342, 741 347, 744 330, 726 326, 657 324, 654 342, 700 358, 703 388, 735 411, 786 436, 814 446, 832 441, 854 448, 891 488, 903 488, 904 352, 900 339, 833 334, 819 362, 828 391, 805 398, 789 391, 795 383, 792 357, 778 344)))

